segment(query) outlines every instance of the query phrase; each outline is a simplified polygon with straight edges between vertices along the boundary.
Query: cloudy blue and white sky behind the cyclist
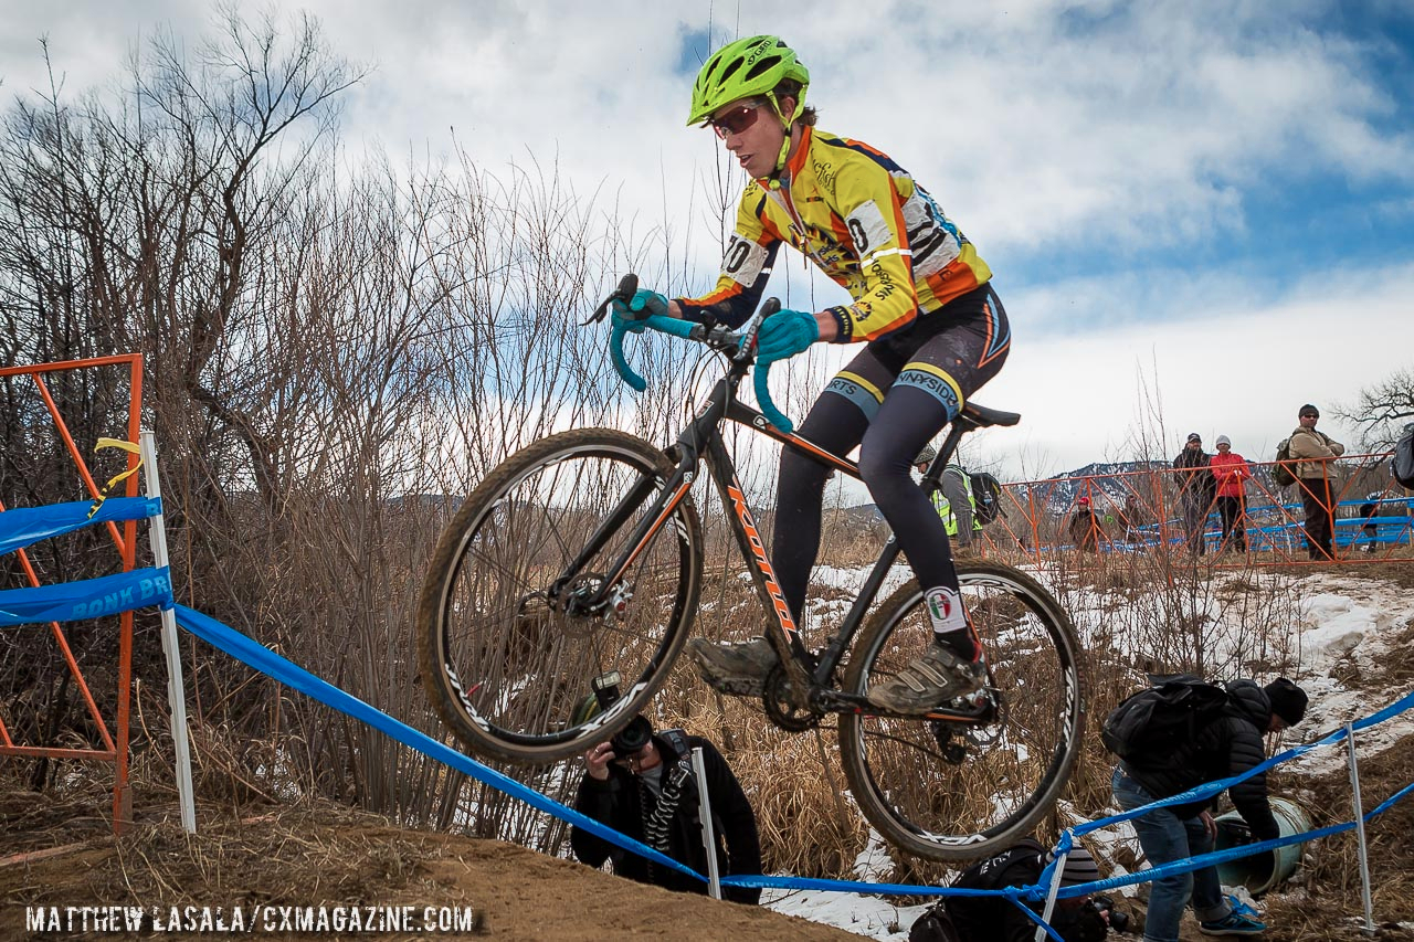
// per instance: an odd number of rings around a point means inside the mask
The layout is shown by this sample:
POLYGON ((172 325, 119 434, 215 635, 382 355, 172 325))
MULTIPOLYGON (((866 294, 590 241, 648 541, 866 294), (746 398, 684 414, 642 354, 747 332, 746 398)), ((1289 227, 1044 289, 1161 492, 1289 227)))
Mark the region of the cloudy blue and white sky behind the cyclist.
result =
MULTIPOLYGON (((308 10, 373 66, 345 102, 351 149, 436 158, 455 141, 491 168, 557 163, 687 245, 693 291, 718 252, 701 221, 717 143, 683 126, 693 75, 724 40, 782 34, 820 126, 906 167, 995 273, 1014 352, 978 400, 1025 419, 976 457, 1012 477, 1134 457, 1137 441, 1174 454, 1192 430, 1270 460, 1301 403, 1329 413, 1414 366, 1407 0, 271 8, 308 10)), ((0 0, 0 100, 47 85, 40 37, 74 93, 160 30, 195 44, 212 11, 0 0)), ((797 259, 782 267, 788 306, 837 303, 797 259)))

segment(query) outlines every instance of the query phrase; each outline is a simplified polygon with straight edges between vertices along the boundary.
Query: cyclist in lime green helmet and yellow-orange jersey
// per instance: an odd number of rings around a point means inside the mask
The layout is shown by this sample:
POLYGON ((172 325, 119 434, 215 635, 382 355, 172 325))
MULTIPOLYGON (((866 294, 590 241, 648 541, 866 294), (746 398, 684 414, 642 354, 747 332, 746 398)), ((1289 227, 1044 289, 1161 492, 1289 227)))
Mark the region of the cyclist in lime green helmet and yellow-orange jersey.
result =
MULTIPOLYGON (((703 65, 687 124, 711 127, 751 177, 715 289, 669 300, 639 290, 614 317, 648 314, 738 327, 756 308, 781 243, 805 253, 853 301, 782 310, 759 330, 758 369, 814 342, 864 344, 812 406, 800 434, 860 448, 860 474, 923 588, 933 641, 908 668, 871 683, 874 706, 926 713, 983 686, 981 649, 959 594, 942 518, 909 477, 913 457, 997 375, 1011 344, 991 272, 933 198, 868 144, 816 130, 810 74, 773 35, 730 42, 703 65)), ((796 624, 820 549, 829 468, 783 448, 772 567, 796 624)), ((765 638, 690 646, 703 678, 759 694, 776 663, 765 638)))

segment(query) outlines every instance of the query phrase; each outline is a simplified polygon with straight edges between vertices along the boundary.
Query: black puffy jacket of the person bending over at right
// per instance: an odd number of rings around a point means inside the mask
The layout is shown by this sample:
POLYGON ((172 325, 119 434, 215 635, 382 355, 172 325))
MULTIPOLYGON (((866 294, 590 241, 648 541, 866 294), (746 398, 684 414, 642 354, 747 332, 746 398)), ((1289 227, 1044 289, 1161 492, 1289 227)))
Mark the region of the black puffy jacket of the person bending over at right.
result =
MULTIPOLYGON (((1241 775, 1267 758, 1263 737, 1271 721, 1271 700, 1254 680, 1233 680, 1226 685, 1232 706, 1192 743, 1175 750, 1161 764, 1137 768, 1120 762, 1124 774, 1138 782, 1154 798, 1169 798, 1191 788, 1220 778, 1241 775)), ((1267 774, 1261 772, 1227 789, 1233 806, 1251 827, 1257 840, 1270 840, 1281 832, 1267 803, 1267 774)), ((1168 810, 1179 818, 1193 818, 1212 799, 1189 805, 1175 805, 1168 810)))

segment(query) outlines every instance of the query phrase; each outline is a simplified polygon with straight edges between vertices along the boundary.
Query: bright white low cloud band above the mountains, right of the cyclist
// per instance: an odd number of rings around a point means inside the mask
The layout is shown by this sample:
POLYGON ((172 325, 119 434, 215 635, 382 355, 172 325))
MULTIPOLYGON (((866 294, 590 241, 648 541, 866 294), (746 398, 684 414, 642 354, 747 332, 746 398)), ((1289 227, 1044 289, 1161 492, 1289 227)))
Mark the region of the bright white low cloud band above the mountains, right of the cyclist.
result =
MULTIPOLYGON (((1161 390, 1162 454, 1178 453, 1198 431, 1226 434, 1251 461, 1270 461, 1297 426, 1297 409, 1321 406, 1322 430, 1352 446, 1353 430, 1331 416, 1362 386, 1407 368, 1414 344, 1414 266, 1311 277, 1278 303, 1234 303, 1184 321, 1127 324, 1090 335, 1027 344, 978 400, 1022 413, 1014 440, 991 433, 988 453, 1022 471, 1019 451, 1045 457, 1032 474, 1055 474, 1099 460, 1138 455, 1133 441, 1150 429, 1140 376, 1161 390)), ((1123 303, 1123 298, 1110 298, 1123 303)))

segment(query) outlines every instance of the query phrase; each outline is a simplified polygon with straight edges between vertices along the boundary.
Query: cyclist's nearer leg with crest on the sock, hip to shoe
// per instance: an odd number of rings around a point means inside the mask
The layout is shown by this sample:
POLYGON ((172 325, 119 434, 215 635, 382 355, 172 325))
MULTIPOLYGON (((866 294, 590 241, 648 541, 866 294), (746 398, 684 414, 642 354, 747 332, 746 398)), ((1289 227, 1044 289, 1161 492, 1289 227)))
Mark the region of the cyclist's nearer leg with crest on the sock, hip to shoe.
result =
POLYGON ((933 620, 936 644, 894 680, 871 690, 871 700, 895 710, 936 706, 964 687, 976 689, 981 678, 971 663, 978 651, 963 611, 946 526, 909 477, 909 463, 957 416, 967 396, 997 375, 1010 349, 1010 330, 1005 311, 986 287, 930 317, 949 315, 949 324, 904 364, 860 451, 864 482, 918 576, 933 620))

